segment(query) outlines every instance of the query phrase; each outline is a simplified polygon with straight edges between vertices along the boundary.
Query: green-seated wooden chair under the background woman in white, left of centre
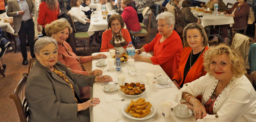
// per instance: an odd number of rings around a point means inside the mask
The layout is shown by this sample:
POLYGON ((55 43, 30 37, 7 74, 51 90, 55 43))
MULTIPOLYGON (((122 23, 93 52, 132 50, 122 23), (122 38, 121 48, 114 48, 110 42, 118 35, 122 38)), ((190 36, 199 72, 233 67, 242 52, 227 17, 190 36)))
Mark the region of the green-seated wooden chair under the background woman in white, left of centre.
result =
POLYGON ((75 41, 75 46, 76 47, 79 47, 79 44, 82 44, 84 45, 84 50, 85 50, 85 43, 84 42, 77 42, 79 40, 87 40, 87 49, 91 49, 91 44, 90 44, 90 37, 88 35, 87 32, 82 32, 82 31, 76 31, 76 28, 75 28, 75 24, 74 24, 74 21, 73 21, 73 18, 70 14, 70 11, 68 11, 67 15, 70 17, 70 24, 73 28, 73 30, 75 31, 75 38, 76 38, 76 41, 75 41))

